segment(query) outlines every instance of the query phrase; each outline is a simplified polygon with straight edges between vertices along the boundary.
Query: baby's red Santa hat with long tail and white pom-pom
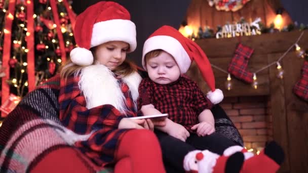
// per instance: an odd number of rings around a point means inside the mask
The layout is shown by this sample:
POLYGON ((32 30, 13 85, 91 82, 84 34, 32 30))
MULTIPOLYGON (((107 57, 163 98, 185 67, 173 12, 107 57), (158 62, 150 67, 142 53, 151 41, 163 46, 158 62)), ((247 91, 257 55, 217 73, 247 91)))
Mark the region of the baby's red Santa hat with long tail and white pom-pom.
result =
POLYGON ((217 104, 222 101, 223 94, 219 89, 215 89, 215 78, 211 64, 193 40, 184 37, 178 30, 171 26, 162 26, 153 32, 145 41, 142 52, 142 66, 146 70, 145 55, 153 50, 163 50, 173 56, 181 73, 186 73, 192 61, 196 61, 204 80, 211 91, 207 98, 217 104))

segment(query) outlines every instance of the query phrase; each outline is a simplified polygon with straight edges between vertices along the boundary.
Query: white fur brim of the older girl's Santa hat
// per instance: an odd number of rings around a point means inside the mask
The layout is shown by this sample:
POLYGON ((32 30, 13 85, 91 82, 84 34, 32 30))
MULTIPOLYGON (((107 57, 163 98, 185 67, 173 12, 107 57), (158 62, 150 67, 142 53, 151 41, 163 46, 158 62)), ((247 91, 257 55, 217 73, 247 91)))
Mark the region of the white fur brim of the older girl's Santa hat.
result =
POLYGON ((91 48, 108 41, 124 41, 130 45, 129 52, 137 47, 136 26, 130 20, 113 19, 95 23, 92 30, 91 48))

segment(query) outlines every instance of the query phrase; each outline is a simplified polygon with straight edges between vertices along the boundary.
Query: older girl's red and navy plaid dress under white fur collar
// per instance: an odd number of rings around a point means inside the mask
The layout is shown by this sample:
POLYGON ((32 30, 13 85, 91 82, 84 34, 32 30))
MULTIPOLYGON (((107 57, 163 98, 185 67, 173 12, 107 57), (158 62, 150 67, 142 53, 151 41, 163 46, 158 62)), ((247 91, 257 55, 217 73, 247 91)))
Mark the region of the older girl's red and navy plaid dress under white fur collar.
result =
POLYGON ((118 129, 123 117, 136 116, 136 110, 128 86, 122 82, 122 92, 126 97, 127 115, 124 115, 112 105, 101 105, 91 109, 86 108, 78 81, 80 77, 69 77, 66 82, 60 81, 60 120, 63 125, 77 134, 94 132, 87 141, 76 142, 75 146, 85 153, 99 166, 114 163, 117 146, 123 134, 128 129, 118 129))

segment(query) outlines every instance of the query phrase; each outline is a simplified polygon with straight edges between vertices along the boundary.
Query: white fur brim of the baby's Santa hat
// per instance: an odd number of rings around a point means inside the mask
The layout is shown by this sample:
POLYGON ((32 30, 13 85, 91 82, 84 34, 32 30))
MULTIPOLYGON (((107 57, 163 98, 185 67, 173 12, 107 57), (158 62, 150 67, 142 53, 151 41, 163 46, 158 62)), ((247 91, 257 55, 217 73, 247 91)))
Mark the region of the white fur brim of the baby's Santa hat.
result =
POLYGON ((157 49, 164 50, 165 52, 172 55, 177 65, 179 66, 181 73, 187 72, 191 64, 191 60, 187 52, 177 39, 167 35, 152 36, 144 42, 142 52, 142 66, 145 70, 145 54, 157 49))

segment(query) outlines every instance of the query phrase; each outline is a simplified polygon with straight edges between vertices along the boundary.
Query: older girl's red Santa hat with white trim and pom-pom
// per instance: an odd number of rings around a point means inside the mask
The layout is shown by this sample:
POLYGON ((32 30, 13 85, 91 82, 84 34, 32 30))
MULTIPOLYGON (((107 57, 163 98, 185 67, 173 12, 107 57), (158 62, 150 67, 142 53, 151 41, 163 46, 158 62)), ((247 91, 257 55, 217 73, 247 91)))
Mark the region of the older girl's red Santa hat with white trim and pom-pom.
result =
POLYGON ((93 63, 90 48, 108 41, 124 41, 130 45, 128 52, 137 47, 136 26, 129 12, 118 3, 99 2, 77 16, 74 37, 78 48, 70 52, 74 64, 87 66, 93 63))

